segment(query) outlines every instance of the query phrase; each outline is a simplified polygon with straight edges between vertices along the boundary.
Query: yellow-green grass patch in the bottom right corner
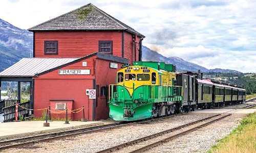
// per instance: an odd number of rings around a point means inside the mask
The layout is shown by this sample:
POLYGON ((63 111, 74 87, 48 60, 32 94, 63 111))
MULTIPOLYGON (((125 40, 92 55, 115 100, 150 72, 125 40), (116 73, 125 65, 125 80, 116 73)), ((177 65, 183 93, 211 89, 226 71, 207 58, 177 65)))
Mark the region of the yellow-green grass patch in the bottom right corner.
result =
POLYGON ((219 140, 207 153, 256 152, 256 113, 249 114, 227 137, 219 140))

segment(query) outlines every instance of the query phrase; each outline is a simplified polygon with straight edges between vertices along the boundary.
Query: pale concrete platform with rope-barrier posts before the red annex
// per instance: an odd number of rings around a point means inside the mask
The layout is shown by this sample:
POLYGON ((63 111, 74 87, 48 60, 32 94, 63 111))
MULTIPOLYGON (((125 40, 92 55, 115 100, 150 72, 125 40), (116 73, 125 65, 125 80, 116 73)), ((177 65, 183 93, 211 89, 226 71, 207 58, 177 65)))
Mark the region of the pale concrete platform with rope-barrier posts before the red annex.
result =
POLYGON ((44 133, 61 132, 82 127, 102 125, 101 121, 65 121, 49 122, 50 126, 43 126, 45 121, 20 121, 0 123, 0 141, 5 139, 20 138, 25 136, 40 135, 44 133))

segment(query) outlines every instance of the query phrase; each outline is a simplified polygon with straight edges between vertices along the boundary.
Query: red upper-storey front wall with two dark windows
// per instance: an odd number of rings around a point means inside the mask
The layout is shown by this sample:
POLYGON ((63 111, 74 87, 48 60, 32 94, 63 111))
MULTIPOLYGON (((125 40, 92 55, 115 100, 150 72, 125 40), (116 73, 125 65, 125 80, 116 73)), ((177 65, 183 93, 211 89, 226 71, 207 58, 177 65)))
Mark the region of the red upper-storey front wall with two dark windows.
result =
POLYGON ((113 41, 113 55, 122 57, 122 32, 35 32, 35 57, 84 57, 98 52, 99 40, 113 41), (44 41, 58 41, 58 55, 44 54, 44 41))

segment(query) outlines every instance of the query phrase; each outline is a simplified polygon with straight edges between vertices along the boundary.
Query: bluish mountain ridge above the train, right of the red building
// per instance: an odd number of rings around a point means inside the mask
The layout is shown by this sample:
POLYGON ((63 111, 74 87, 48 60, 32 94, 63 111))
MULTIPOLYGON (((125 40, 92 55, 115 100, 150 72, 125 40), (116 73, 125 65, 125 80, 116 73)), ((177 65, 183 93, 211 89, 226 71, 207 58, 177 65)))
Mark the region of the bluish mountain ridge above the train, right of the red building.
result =
POLYGON ((184 61, 183 59, 178 57, 169 57, 169 58, 164 57, 161 54, 158 54, 157 52, 145 46, 142 46, 142 61, 160 61, 160 62, 165 62, 167 64, 175 64, 176 69, 179 72, 184 72, 184 71, 198 72, 198 70, 200 70, 201 72, 208 71, 208 69, 203 66, 184 61))

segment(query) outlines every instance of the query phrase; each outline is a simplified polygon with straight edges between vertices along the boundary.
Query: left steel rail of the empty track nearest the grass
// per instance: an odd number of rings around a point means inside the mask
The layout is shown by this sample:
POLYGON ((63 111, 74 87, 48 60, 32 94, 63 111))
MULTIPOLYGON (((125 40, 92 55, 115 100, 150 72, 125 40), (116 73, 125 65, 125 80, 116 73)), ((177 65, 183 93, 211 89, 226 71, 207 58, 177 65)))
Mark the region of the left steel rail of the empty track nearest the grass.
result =
POLYGON ((137 139, 137 140, 133 140, 133 141, 126 142, 126 143, 123 143, 123 144, 120 144, 120 145, 117 145, 117 146, 114 146, 114 147, 111 147, 111 148, 107 148, 107 149, 98 151, 97 153, 113 152, 113 151, 118 150, 118 149, 120 149, 120 148, 124 148, 124 147, 130 146, 130 145, 133 145, 133 144, 142 142, 142 141, 146 141, 146 140, 149 140, 149 139, 153 139, 153 138, 155 138, 155 137, 158 137, 158 136, 161 136, 161 135, 164 135, 164 134, 167 134, 167 133, 170 133, 170 132, 173 132, 173 131, 182 129, 183 127, 186 127, 186 126, 189 126, 189 125, 193 125, 193 124, 196 124, 196 123, 199 123, 199 122, 208 120, 208 119, 210 119, 210 118, 213 118, 213 117, 216 117, 216 116, 219 116, 219 115, 221 115, 221 114, 213 115, 213 116, 206 117, 206 118, 203 118, 203 119, 200 119, 200 120, 197 120, 197 121, 193 121, 193 122, 190 122, 190 123, 187 123, 187 124, 183 124, 183 125, 174 127, 174 128, 172 128, 172 129, 165 130, 165 131, 159 132, 159 133, 157 133, 157 134, 153 134, 153 135, 151 135, 151 136, 143 137, 143 138, 140 138, 140 139, 137 139))

